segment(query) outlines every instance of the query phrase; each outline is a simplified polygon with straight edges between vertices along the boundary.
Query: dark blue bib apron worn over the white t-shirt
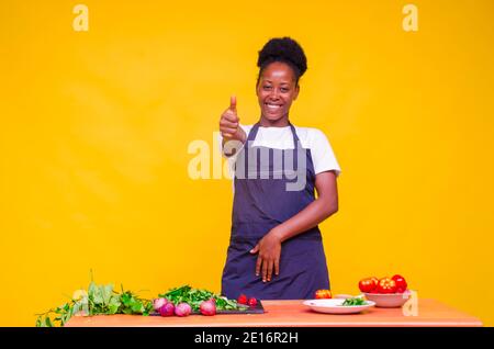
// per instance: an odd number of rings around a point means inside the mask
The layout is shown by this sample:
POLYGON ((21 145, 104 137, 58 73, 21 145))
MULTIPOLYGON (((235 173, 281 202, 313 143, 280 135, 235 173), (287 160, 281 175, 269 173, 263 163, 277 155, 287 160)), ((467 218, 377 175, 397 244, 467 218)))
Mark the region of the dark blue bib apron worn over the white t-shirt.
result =
POLYGON ((259 130, 257 123, 250 130, 245 146, 237 156, 231 240, 222 277, 222 294, 228 299, 236 300, 242 293, 260 300, 313 299, 316 290, 329 289, 326 257, 317 226, 282 244, 280 273, 276 275, 273 271, 271 281, 265 283, 261 275, 256 275, 258 255, 250 254, 250 249, 273 227, 297 214, 315 200, 315 173, 311 149, 302 148, 295 127, 291 123, 290 128, 294 149, 252 147, 251 144, 259 130), (261 157, 257 157, 256 173, 246 176, 247 173, 243 172, 243 176, 239 176, 238 161, 245 161, 244 170, 249 171, 249 154, 259 151, 260 148, 269 153, 269 161, 260 164, 261 157), (305 168, 297 167, 297 154, 305 157, 305 168), (274 156, 293 159, 292 169, 303 171, 306 178, 302 190, 287 191, 287 183, 295 182, 293 177, 283 174, 281 178, 280 176, 273 178, 274 156), (262 171, 265 172, 261 178, 262 171), (269 172, 269 178, 266 178, 266 171, 269 172))

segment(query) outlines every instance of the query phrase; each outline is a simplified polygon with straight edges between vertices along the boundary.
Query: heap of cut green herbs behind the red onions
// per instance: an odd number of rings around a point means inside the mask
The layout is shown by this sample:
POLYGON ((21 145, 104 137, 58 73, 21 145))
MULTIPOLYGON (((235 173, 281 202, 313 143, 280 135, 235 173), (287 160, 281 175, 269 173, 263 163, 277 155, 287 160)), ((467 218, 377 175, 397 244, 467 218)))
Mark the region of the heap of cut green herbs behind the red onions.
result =
POLYGON ((193 289, 189 285, 171 289, 167 293, 159 294, 159 296, 167 299, 175 305, 182 302, 188 303, 192 307, 192 312, 199 312, 201 303, 211 299, 216 302, 216 311, 245 311, 248 308, 248 306, 238 304, 234 300, 222 297, 207 290, 193 289))

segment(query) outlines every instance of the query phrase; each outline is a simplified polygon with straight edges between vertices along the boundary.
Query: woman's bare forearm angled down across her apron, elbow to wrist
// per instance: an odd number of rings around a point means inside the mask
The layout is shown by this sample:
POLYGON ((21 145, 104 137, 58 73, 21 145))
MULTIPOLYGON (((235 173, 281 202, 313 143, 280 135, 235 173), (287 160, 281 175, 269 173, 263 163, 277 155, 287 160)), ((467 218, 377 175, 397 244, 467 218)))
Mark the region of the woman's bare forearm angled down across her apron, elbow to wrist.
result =
POLYGON ((285 241, 295 235, 315 227, 337 211, 338 203, 336 200, 319 196, 293 217, 274 227, 273 234, 281 241, 285 241))

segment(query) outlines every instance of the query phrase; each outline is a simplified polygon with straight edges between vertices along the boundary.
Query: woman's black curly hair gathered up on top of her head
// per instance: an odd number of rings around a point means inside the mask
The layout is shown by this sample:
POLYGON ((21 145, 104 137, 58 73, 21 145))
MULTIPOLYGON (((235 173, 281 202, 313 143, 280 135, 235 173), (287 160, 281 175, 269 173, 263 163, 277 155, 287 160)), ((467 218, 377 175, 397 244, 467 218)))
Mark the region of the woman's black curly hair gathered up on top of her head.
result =
POLYGON ((299 86, 299 79, 307 70, 307 58, 296 41, 291 37, 274 37, 271 38, 259 50, 259 58, 257 66, 259 67, 259 75, 257 76, 257 83, 259 85, 262 70, 273 61, 282 61, 288 64, 295 74, 295 85, 299 86))

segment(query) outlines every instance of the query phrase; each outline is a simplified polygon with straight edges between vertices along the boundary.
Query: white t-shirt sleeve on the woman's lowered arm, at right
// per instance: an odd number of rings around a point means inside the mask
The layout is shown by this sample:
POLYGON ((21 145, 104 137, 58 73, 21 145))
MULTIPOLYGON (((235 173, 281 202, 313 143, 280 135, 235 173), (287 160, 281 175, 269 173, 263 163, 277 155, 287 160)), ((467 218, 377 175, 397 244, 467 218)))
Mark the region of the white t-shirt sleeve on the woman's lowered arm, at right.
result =
POLYGON ((334 170, 338 177, 341 173, 341 169, 329 140, 321 130, 313 128, 311 131, 310 148, 315 173, 334 170))

